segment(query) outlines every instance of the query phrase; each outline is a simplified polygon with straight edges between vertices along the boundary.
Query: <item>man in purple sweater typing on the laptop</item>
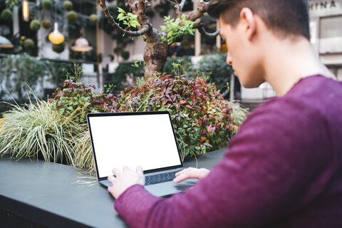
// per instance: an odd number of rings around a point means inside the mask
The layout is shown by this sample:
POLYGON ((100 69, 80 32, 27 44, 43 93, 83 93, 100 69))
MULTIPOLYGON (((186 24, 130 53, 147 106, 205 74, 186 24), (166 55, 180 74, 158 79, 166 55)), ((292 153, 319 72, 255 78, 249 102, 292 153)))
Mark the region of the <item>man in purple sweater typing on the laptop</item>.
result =
POLYGON ((309 42, 307 0, 213 0, 227 63, 262 104, 212 170, 184 194, 153 197, 136 172, 113 169, 108 191, 130 227, 342 227, 342 85, 309 42))

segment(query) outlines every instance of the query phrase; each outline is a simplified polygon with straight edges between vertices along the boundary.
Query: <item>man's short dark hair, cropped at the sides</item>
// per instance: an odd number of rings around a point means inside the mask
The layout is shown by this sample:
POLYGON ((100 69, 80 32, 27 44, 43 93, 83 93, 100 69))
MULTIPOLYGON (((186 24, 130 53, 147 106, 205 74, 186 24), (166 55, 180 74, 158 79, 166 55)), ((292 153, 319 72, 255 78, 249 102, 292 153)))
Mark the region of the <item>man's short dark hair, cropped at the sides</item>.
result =
POLYGON ((279 37, 301 35, 310 39, 308 0, 212 0, 208 14, 225 23, 237 25, 240 11, 247 7, 279 37))

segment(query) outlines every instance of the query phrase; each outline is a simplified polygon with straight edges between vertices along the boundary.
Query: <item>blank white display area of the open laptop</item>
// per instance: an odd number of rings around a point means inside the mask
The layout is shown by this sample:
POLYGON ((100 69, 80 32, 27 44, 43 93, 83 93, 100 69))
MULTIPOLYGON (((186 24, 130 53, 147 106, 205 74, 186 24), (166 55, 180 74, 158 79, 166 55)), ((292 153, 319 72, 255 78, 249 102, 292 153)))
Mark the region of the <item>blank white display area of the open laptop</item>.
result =
POLYGON ((145 170, 181 165, 168 114, 90 116, 98 177, 113 167, 145 170))

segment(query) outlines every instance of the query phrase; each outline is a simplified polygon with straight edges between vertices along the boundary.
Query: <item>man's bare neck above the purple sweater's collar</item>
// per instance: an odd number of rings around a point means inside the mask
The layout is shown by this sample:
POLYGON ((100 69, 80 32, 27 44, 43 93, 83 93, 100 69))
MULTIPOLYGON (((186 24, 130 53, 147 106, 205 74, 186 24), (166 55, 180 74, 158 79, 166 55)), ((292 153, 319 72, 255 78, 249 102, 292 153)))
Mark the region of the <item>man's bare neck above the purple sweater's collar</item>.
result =
POLYGON ((335 78, 321 63, 306 38, 276 39, 271 47, 269 43, 265 46, 268 50, 264 58, 265 80, 271 84, 278 96, 285 95, 301 78, 318 74, 335 78))

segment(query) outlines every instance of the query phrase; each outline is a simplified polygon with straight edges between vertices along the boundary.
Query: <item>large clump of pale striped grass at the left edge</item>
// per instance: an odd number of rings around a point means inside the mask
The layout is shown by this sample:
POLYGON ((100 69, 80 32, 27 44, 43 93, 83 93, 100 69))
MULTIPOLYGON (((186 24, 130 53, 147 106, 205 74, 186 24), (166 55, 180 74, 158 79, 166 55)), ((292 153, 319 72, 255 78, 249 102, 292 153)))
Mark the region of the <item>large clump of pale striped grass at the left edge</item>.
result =
POLYGON ((5 114, 0 126, 0 156, 38 158, 75 165, 73 145, 86 125, 69 116, 61 115, 51 102, 36 100, 24 107, 14 105, 5 114))

